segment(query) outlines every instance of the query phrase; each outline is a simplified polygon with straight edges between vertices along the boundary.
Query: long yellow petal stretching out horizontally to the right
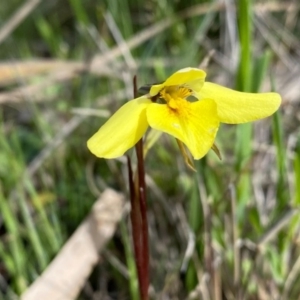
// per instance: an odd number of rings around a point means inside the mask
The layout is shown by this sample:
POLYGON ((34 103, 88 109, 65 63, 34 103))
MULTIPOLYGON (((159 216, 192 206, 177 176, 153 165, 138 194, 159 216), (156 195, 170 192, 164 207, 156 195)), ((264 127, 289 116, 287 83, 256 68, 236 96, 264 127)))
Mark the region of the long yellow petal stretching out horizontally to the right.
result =
POLYGON ((242 93, 218 84, 205 82, 200 99, 213 99, 217 103, 220 122, 239 124, 272 115, 280 106, 277 93, 242 93))

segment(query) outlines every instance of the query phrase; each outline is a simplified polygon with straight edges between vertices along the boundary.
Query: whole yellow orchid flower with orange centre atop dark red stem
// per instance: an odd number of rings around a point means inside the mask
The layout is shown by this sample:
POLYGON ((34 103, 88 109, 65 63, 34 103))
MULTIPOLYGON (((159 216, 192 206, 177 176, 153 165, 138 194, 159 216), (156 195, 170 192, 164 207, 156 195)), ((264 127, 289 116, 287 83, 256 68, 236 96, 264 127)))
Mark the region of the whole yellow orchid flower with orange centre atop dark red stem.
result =
POLYGON ((281 103, 277 93, 242 93, 205 82, 205 77, 203 70, 184 68, 152 85, 148 94, 124 104, 88 140, 89 150, 103 158, 122 156, 150 126, 174 136, 200 159, 213 147, 220 122, 262 119, 281 103))

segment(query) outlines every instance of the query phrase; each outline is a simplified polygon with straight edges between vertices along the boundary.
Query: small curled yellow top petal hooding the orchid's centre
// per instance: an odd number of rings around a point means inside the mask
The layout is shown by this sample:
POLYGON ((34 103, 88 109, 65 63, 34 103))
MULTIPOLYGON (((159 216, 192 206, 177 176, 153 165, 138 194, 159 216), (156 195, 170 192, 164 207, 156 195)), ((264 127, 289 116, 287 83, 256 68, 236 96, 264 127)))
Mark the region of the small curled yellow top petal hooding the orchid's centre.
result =
POLYGON ((172 74, 164 83, 153 85, 150 96, 157 95, 165 86, 186 86, 195 92, 201 90, 206 73, 197 68, 184 68, 172 74))

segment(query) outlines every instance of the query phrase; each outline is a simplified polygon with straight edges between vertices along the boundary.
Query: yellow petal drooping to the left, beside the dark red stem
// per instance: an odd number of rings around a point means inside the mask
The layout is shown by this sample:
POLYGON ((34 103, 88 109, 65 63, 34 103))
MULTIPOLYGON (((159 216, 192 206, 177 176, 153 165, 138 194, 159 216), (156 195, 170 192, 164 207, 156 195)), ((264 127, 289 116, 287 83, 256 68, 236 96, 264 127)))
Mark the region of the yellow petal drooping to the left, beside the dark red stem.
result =
POLYGON ((98 157, 122 156, 146 132, 146 109, 151 103, 151 100, 143 96, 124 104, 88 140, 89 150, 98 157))

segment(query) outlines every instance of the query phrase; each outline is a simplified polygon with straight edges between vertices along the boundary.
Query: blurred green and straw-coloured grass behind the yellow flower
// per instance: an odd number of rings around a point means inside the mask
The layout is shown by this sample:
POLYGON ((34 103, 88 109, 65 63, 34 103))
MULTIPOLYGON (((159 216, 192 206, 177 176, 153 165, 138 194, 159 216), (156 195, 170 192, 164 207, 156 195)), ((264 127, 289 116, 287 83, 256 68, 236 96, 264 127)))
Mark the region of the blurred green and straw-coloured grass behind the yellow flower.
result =
MULTIPOLYGON (((274 90, 283 104, 255 124, 222 125, 222 161, 211 152, 197 173, 168 136, 150 150, 152 297, 299 299, 298 1, 34 2, 6 35, 25 2, 0 9, 0 299, 35 280, 101 191, 127 194, 124 160, 96 159, 86 140, 132 98, 132 76, 153 83, 201 63, 209 81, 274 90)), ((80 299, 136 299, 136 278, 111 263, 132 274, 128 224, 80 299)))

